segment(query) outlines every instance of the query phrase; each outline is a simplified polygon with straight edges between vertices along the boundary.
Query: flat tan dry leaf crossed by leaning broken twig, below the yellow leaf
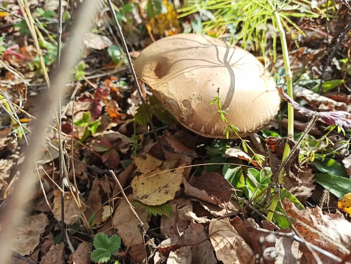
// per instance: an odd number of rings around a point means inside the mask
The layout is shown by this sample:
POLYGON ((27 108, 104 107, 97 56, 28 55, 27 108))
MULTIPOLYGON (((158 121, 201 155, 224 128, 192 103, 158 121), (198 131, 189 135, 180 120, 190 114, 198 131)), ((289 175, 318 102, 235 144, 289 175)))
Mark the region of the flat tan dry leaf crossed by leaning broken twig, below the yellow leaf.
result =
MULTIPOLYGON (((135 208, 138 217, 143 221, 145 231, 148 230, 150 220, 145 209, 135 208)), ((135 218, 131 208, 126 200, 121 200, 113 213, 112 221, 118 235, 121 237, 123 244, 126 246, 143 242, 143 237, 138 230, 138 220, 135 218), (133 242, 132 242, 133 241, 133 242)))

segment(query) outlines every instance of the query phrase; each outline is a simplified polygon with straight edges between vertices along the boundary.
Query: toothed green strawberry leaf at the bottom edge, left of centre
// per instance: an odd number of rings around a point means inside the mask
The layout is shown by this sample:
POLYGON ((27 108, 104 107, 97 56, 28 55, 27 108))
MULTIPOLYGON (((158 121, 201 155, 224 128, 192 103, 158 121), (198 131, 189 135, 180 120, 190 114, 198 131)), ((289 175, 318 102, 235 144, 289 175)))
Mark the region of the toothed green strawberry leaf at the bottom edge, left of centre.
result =
POLYGON ((95 263, 105 263, 111 259, 111 254, 121 247, 121 238, 116 234, 110 238, 104 233, 97 233, 93 241, 95 249, 91 253, 91 259, 95 263))

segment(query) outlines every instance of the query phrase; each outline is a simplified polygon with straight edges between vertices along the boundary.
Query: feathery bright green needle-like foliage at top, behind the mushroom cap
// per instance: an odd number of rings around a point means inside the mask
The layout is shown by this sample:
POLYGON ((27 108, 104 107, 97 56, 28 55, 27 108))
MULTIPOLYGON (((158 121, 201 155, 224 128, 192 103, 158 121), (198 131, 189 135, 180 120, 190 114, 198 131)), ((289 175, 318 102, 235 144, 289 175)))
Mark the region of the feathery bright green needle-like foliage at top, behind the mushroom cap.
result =
MULTIPOLYGON (((209 20, 202 23, 203 32, 208 32, 213 28, 227 27, 231 32, 231 40, 236 43, 239 39, 243 40, 243 46, 254 44, 253 48, 258 50, 259 47, 265 54, 267 43, 266 25, 273 17, 275 10, 278 10, 279 16, 283 19, 283 26, 296 38, 296 33, 303 33, 298 25, 291 18, 314 17, 324 15, 316 5, 311 1, 297 0, 187 0, 183 8, 179 9, 180 17, 200 12, 210 13, 206 17, 209 20), (311 6, 315 11, 312 11, 311 6), (289 25, 290 24, 290 25, 289 25), (292 27, 291 27, 292 26, 292 27)), ((273 22, 273 27, 277 25, 273 22)), ((219 31, 221 32, 221 31, 219 31)), ((274 58, 276 58, 276 34, 275 28, 272 30, 274 58)))

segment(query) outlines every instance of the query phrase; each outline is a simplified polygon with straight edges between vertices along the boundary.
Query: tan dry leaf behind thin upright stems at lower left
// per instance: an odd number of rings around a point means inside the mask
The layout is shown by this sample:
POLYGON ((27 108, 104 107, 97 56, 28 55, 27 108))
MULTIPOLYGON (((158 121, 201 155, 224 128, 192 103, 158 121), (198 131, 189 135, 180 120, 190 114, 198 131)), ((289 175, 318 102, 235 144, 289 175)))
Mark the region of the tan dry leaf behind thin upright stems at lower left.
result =
MULTIPOLYGON (((54 208, 53 213, 59 221, 61 221, 61 192, 59 190, 54 191, 54 208)), ((85 203, 80 199, 82 208, 78 209, 77 203, 75 202, 71 192, 65 192, 64 208, 65 208, 65 223, 71 225, 81 220, 80 212, 84 212, 87 208, 85 203)))

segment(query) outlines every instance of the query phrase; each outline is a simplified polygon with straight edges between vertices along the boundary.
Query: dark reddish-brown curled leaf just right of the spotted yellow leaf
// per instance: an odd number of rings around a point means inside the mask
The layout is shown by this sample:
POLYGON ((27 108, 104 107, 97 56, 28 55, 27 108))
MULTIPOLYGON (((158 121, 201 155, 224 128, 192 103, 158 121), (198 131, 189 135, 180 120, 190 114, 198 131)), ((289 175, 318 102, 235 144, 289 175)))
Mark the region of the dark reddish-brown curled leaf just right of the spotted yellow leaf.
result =
POLYGON ((185 193, 211 204, 229 202, 233 194, 233 186, 217 172, 206 173, 201 177, 193 177, 190 182, 183 180, 185 193))

